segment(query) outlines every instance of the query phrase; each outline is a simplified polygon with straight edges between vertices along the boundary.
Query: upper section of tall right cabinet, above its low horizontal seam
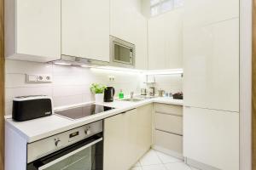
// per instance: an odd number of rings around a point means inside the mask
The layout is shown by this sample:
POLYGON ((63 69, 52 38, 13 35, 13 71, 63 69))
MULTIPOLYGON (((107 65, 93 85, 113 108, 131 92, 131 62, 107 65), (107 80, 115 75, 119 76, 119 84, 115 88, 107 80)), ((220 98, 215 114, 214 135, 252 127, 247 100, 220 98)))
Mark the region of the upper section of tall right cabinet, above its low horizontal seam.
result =
POLYGON ((238 112, 239 1, 187 0, 183 36, 184 105, 238 112))

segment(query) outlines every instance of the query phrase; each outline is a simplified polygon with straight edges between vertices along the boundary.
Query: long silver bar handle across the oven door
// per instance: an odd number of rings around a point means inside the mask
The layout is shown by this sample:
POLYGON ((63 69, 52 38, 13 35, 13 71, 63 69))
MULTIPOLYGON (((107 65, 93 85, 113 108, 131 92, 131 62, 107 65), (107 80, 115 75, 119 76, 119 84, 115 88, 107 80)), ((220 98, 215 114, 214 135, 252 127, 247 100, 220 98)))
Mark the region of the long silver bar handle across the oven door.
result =
POLYGON ((58 159, 55 159, 55 161, 50 161, 49 163, 45 164, 44 166, 38 167, 38 170, 44 170, 47 167, 53 166, 54 164, 65 160, 67 157, 73 156, 76 153, 79 153, 79 151, 85 150, 86 148, 89 148, 90 146, 97 144, 97 143, 101 142, 102 140, 103 140, 103 138, 96 139, 95 141, 91 142, 90 144, 84 145, 83 147, 79 148, 78 150, 73 150, 72 152, 68 153, 67 155, 61 156, 58 159))

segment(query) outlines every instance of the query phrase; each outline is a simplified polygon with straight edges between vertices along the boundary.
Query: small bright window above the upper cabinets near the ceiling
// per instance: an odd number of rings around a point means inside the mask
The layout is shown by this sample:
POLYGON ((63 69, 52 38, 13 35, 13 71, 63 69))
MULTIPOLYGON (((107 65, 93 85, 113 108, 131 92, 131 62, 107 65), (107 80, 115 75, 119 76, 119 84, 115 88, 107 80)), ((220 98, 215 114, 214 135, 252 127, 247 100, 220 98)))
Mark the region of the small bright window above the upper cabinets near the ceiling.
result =
POLYGON ((182 7, 184 0, 150 0, 151 16, 182 7))

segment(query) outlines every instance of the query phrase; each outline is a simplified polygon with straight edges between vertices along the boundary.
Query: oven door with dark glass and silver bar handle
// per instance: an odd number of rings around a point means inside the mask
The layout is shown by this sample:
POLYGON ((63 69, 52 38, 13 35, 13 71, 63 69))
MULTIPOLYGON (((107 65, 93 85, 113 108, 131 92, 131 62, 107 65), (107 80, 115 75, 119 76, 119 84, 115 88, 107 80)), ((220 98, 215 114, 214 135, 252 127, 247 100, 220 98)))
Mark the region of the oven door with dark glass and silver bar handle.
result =
MULTIPOLYGON (((102 169, 102 138, 90 141, 81 146, 70 146, 63 153, 53 153, 52 156, 34 163, 32 169, 37 170, 95 170, 102 169), (77 148, 79 147, 79 148, 77 148), (74 149, 75 148, 75 149, 74 149), (100 152, 100 153, 99 153, 100 152), (56 158, 57 157, 57 158, 56 158), (98 162, 97 162, 98 161, 98 162), (44 163, 47 162, 47 163, 44 163), (96 165, 97 164, 97 165, 96 165)), ((30 168, 28 168, 30 170, 30 168)))

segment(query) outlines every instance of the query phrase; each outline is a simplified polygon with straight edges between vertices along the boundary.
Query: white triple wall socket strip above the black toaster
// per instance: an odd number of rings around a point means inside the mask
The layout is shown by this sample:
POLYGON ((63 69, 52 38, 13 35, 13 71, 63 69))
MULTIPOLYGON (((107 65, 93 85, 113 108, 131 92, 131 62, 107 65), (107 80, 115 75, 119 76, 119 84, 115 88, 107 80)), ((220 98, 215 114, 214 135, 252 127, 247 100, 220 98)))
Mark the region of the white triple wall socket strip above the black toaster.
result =
POLYGON ((50 83, 52 82, 51 75, 38 74, 38 75, 26 75, 27 83, 50 83))

